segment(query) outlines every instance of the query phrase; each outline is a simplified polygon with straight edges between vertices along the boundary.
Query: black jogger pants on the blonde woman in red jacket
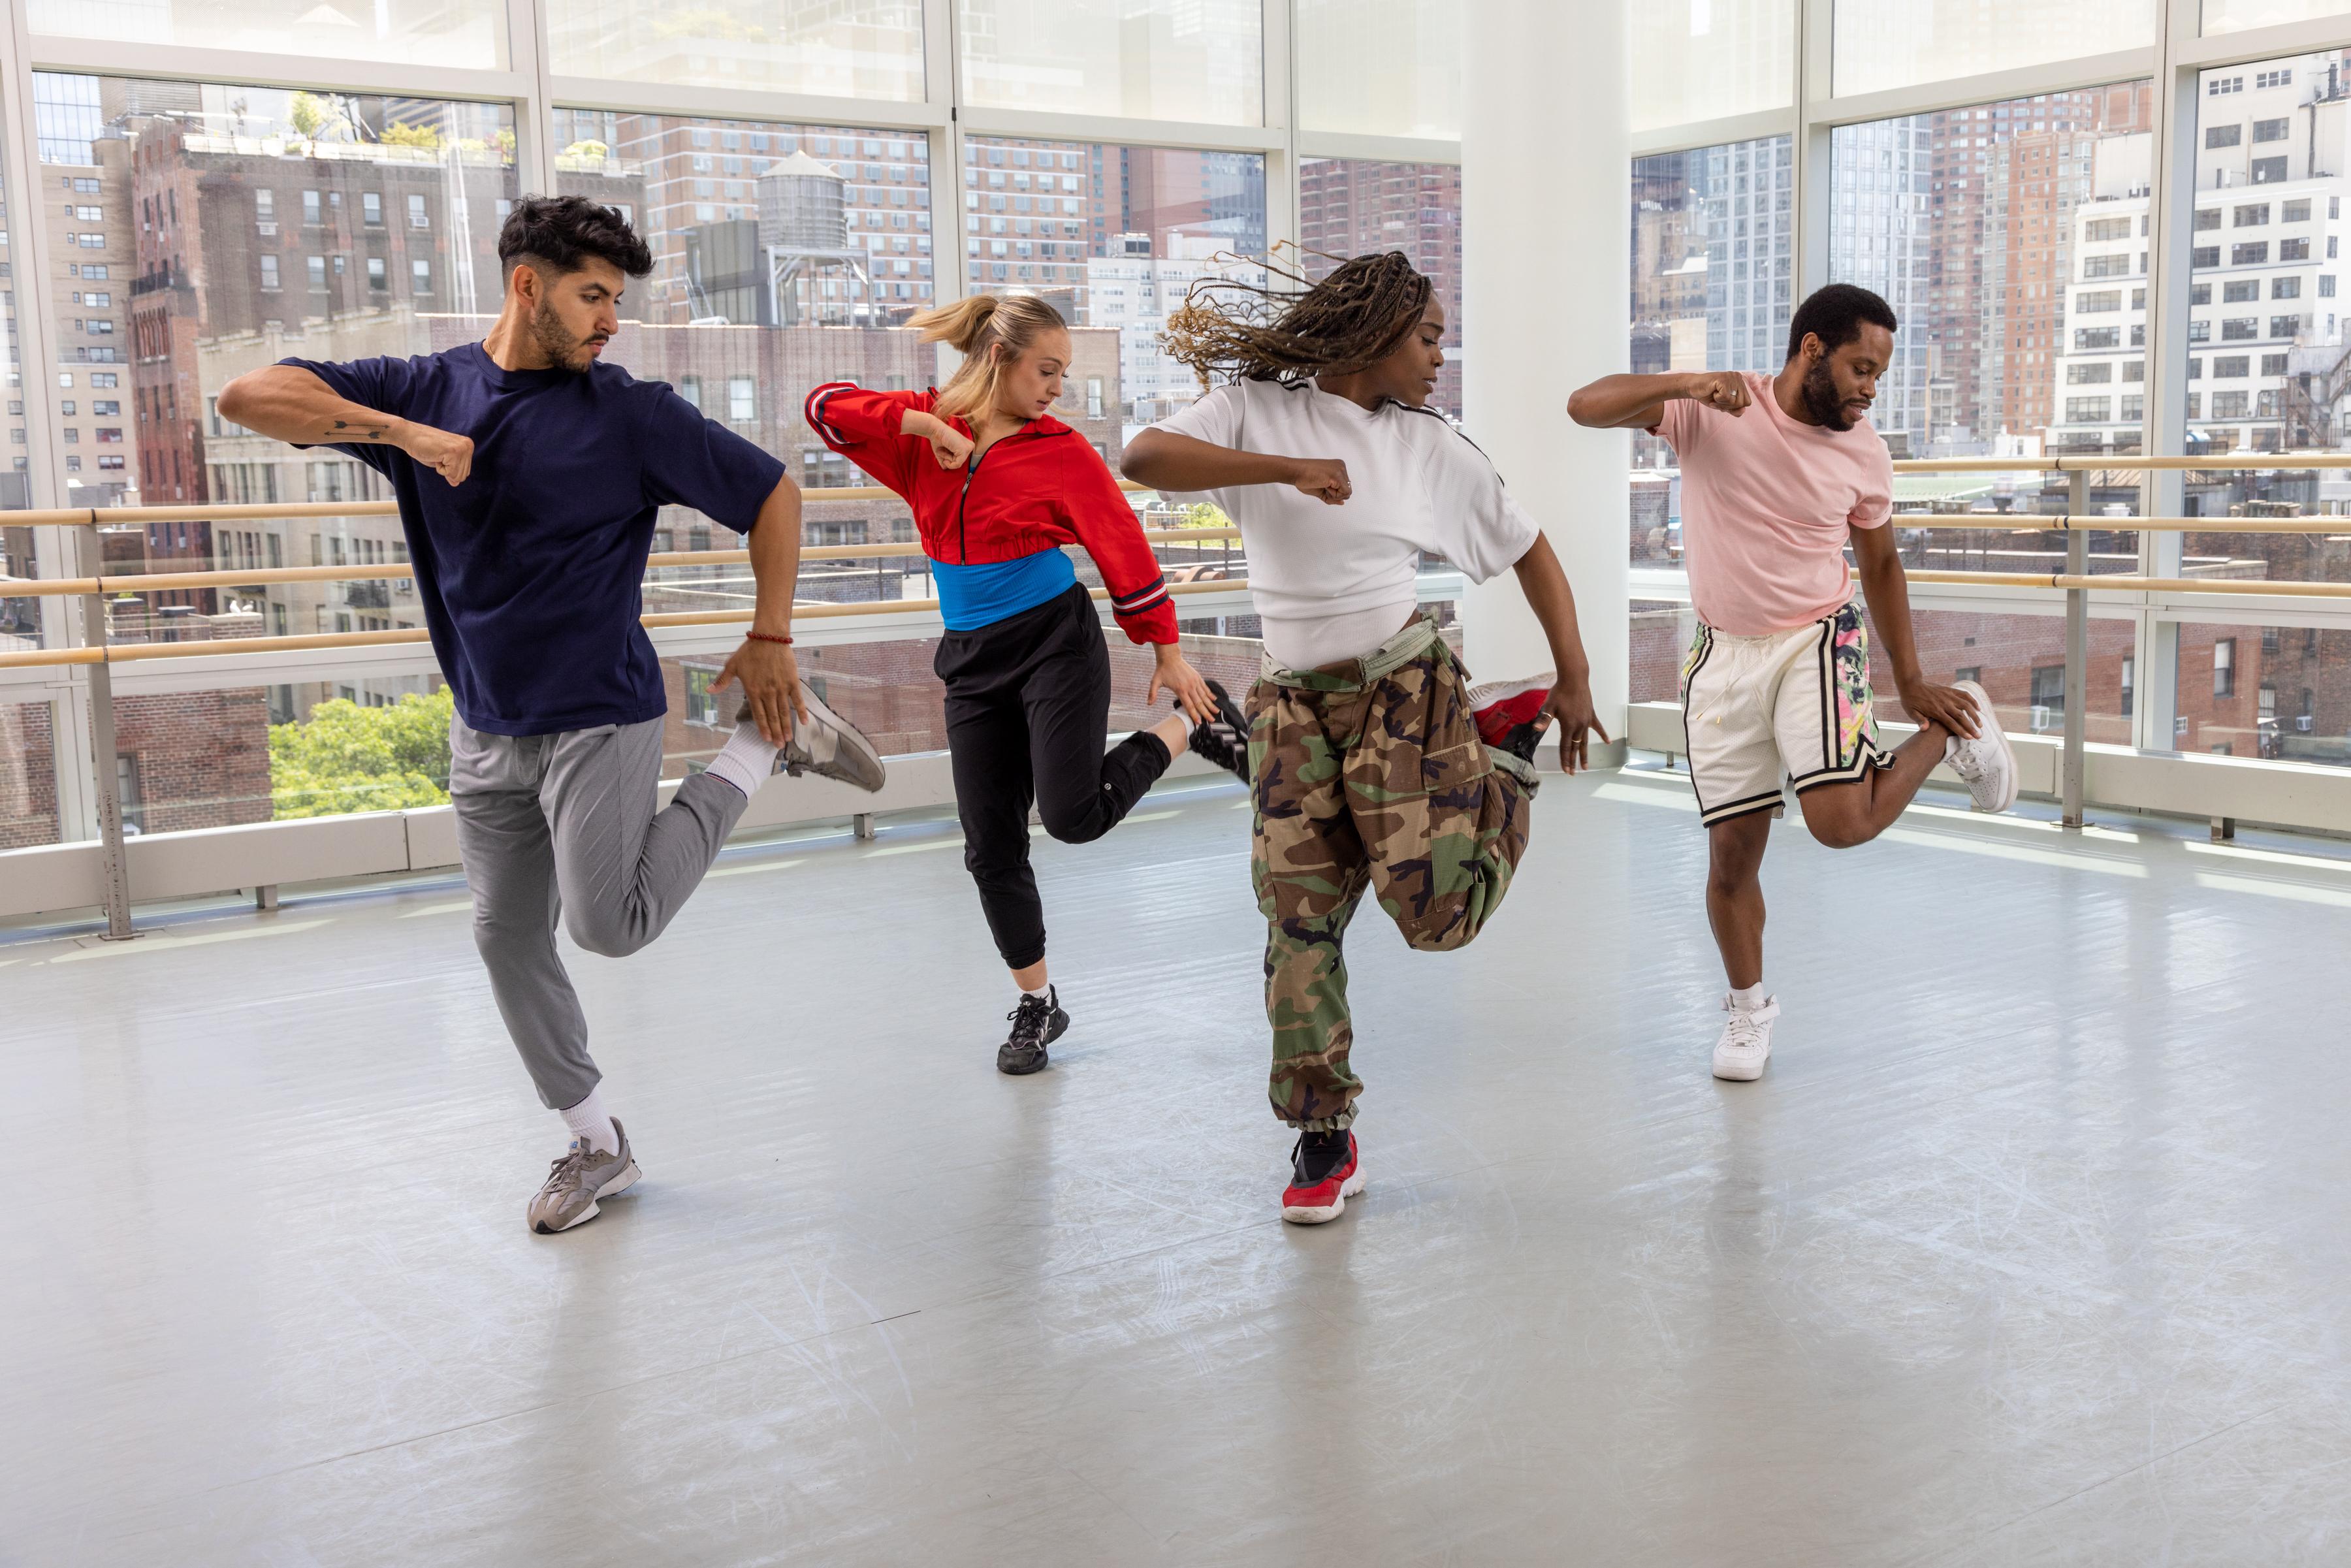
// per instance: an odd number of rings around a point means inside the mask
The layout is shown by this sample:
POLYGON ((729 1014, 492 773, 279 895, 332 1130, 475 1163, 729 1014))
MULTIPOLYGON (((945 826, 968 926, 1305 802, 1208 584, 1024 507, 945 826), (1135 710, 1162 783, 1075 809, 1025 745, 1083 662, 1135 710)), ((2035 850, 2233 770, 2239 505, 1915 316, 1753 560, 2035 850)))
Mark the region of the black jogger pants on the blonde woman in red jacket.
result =
POLYGON ((1084 585, 976 632, 947 632, 931 668, 947 684, 964 867, 1004 964, 1027 969, 1044 957, 1030 804, 1063 844, 1098 839, 1166 773, 1168 748, 1136 731, 1103 752, 1110 649, 1084 585))

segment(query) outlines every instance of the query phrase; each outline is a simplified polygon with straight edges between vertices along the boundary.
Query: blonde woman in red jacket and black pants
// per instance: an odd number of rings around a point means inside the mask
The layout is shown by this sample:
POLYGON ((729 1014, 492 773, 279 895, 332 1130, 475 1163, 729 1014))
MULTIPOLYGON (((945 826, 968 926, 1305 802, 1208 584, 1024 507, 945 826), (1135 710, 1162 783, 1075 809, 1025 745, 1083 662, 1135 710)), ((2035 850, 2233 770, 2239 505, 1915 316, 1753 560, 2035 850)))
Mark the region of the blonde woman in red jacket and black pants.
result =
POLYGON ((922 529, 947 623, 933 668, 947 684, 964 865, 1020 990, 997 1070, 1037 1072, 1070 1013, 1044 966, 1030 804, 1056 839, 1086 844, 1117 827, 1185 745, 1248 778, 1244 719, 1176 649, 1166 581, 1110 468, 1053 418, 1070 367, 1053 306, 980 294, 917 315, 915 327, 964 355, 945 390, 835 381, 809 393, 809 425, 905 496, 922 529), (1100 567, 1126 635, 1157 654, 1143 701, 1161 689, 1176 698, 1173 715, 1107 755, 1110 651, 1060 552, 1070 543, 1100 567))

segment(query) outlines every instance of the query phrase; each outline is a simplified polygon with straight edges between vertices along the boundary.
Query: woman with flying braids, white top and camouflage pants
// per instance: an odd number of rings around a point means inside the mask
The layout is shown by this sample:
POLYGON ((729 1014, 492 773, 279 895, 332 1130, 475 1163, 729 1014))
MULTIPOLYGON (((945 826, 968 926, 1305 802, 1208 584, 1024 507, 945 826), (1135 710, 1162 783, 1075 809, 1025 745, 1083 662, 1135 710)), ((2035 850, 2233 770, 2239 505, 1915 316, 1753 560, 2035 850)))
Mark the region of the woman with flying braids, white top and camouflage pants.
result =
POLYGON ((1225 508, 1248 548, 1265 672, 1248 693, 1251 877, 1267 919, 1274 1114, 1298 1128, 1281 1218, 1333 1220, 1364 1190, 1340 943, 1373 891, 1427 952, 1469 943, 1526 853, 1535 743, 1587 762, 1575 597, 1486 456, 1427 407, 1446 315, 1396 252, 1300 289, 1194 284, 1168 353, 1220 383, 1126 447, 1126 475, 1225 508), (1519 574, 1554 670, 1472 686, 1420 614, 1422 552, 1519 574))

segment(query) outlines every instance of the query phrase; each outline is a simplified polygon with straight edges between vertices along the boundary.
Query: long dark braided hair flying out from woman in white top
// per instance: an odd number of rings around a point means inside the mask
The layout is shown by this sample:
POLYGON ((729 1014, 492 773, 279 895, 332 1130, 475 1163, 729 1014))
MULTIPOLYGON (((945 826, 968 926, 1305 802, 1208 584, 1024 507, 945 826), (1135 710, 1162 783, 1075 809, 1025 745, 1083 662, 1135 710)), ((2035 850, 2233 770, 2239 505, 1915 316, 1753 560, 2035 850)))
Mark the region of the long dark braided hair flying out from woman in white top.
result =
POLYGON ((1305 381, 1371 369, 1429 308, 1432 284, 1404 252, 1354 256, 1321 280, 1277 261, 1265 270, 1281 282, 1201 277, 1168 315, 1159 343, 1171 360, 1192 367, 1204 390, 1220 381, 1305 381))

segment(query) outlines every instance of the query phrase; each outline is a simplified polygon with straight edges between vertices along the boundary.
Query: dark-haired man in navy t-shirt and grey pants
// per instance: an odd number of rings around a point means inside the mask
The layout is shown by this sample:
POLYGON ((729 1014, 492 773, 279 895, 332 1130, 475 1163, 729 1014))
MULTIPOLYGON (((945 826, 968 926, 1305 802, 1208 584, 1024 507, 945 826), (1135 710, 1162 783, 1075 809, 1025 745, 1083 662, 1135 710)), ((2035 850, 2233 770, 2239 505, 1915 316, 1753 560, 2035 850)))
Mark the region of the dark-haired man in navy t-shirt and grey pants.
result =
POLYGON ((498 233, 505 299, 480 343, 414 360, 284 360, 221 388, 221 416, 334 447, 393 482, 433 651, 456 701, 449 797, 473 933, 541 1100, 571 1150, 531 1199, 552 1234, 637 1180, 597 1091, 588 1023, 555 952, 611 957, 670 924, 776 771, 882 788, 882 759, 799 679, 799 489, 766 451, 658 381, 604 364, 654 256, 609 207, 524 197, 498 233), (691 505, 748 534, 757 609, 717 686, 743 712, 705 773, 656 811, 661 663, 637 616, 654 515, 691 505))

